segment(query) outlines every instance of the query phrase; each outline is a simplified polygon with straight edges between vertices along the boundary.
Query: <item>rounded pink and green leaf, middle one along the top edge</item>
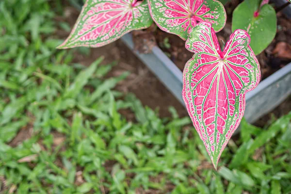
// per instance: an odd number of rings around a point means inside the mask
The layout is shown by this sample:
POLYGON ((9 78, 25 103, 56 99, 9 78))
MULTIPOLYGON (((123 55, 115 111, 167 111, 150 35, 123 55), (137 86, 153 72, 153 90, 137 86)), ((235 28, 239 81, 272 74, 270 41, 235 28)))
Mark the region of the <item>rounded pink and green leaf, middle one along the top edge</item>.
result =
POLYGON ((218 0, 148 0, 148 5, 161 30, 183 40, 198 22, 211 22, 215 32, 226 25, 226 10, 218 0))

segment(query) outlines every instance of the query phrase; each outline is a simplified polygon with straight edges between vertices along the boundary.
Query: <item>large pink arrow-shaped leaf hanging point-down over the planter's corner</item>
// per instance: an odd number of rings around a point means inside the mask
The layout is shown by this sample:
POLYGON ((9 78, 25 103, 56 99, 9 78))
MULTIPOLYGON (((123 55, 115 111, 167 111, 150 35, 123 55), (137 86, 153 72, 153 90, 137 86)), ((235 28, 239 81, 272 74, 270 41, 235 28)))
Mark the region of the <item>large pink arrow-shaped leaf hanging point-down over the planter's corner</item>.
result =
POLYGON ((245 93, 260 81, 259 62, 249 44, 249 34, 236 30, 221 51, 209 22, 200 22, 186 41, 195 54, 184 68, 182 95, 215 169, 242 120, 245 93))

